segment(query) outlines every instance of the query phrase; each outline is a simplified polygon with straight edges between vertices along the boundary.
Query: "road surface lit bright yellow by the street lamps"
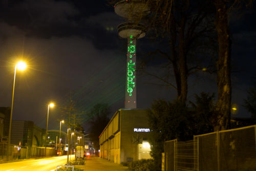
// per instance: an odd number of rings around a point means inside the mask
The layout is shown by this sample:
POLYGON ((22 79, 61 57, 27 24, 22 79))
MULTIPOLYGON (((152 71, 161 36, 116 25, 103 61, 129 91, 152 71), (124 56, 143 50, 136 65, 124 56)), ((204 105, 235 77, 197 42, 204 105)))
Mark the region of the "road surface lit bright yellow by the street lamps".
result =
MULTIPOLYGON (((72 155, 71 159, 75 156, 72 155)), ((28 159, 17 162, 1 163, 0 171, 50 171, 57 165, 67 163, 67 156, 50 157, 44 159, 28 159)))

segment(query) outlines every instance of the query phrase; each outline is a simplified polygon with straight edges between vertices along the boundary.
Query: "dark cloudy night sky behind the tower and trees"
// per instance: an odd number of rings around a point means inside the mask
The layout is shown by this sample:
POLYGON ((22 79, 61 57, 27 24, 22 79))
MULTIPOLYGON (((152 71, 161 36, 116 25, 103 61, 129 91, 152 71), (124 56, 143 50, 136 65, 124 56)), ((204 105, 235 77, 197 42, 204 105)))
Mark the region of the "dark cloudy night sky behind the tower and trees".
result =
MULTIPOLYGON (((59 108, 67 105, 70 94, 80 111, 88 112, 96 103, 108 103, 113 114, 124 107, 126 40, 118 37, 116 29, 124 20, 106 1, 0 2, 0 106, 11 105, 16 61, 24 59, 28 65, 16 74, 13 119, 31 120, 45 128, 47 105, 53 101, 56 108, 50 111, 49 129, 58 129, 59 108)), ((229 21, 232 66, 237 71, 231 77, 237 117, 250 116, 242 105, 256 73, 255 16, 255 9, 249 9, 231 15, 229 21)), ((150 49, 142 49, 145 45, 158 43, 139 39, 137 60, 150 49)), ((138 108, 149 108, 153 99, 176 98, 174 89, 148 82, 137 77, 138 108)), ((216 75, 190 77, 188 100, 202 91, 216 93, 216 85, 216 75)))

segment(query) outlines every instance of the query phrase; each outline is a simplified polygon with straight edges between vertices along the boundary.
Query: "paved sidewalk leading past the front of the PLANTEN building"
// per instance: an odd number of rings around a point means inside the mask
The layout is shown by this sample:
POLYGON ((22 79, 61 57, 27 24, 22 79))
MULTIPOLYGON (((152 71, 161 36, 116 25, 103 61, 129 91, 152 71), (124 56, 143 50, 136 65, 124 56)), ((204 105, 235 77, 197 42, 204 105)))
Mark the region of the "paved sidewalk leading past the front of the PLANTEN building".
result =
POLYGON ((108 160, 90 156, 86 158, 85 171, 129 171, 128 167, 121 164, 116 164, 108 160))

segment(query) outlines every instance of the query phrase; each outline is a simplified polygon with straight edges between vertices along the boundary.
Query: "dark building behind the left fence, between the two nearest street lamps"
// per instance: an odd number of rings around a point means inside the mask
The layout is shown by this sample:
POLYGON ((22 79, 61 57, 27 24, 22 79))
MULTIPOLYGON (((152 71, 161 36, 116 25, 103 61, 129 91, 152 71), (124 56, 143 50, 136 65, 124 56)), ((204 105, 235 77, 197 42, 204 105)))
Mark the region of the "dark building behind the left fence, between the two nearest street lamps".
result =
POLYGON ((42 146, 44 129, 36 126, 33 121, 13 120, 11 129, 11 144, 21 146, 42 146))

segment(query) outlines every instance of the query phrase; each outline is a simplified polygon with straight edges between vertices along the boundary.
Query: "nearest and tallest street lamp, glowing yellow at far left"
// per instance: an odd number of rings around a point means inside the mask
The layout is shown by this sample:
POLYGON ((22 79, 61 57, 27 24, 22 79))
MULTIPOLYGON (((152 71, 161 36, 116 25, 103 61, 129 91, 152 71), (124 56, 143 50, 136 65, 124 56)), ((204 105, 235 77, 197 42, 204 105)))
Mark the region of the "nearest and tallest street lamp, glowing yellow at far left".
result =
POLYGON ((8 148, 7 148, 7 160, 9 158, 9 147, 11 144, 11 129, 12 129, 12 111, 13 111, 13 99, 14 99, 14 88, 15 88, 15 78, 16 78, 16 70, 23 71, 27 68, 27 65, 24 61, 19 61, 15 65, 14 69, 14 79, 13 79, 13 90, 12 90, 12 104, 11 104, 11 114, 10 114, 10 124, 9 124, 9 135, 8 135, 8 148))

